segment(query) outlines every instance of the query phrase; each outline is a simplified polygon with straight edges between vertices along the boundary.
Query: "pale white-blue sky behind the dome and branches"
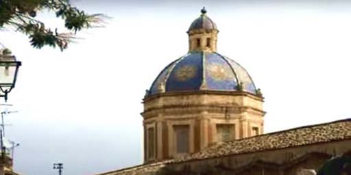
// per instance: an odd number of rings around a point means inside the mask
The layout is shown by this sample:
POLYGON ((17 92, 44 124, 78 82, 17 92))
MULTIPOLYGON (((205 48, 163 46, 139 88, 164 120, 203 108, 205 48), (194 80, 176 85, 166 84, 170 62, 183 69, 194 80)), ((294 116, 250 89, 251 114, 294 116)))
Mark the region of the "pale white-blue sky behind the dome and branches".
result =
MULTIPOLYGON (((351 3, 347 1, 85 1, 112 17, 69 49, 33 49, 0 31, 23 62, 6 135, 21 174, 94 174, 143 163, 145 90, 188 51, 186 30, 206 6, 218 52, 239 62, 265 96, 265 133, 350 118, 351 3), (147 3, 146 3, 147 2, 147 3)), ((62 25, 47 12, 41 19, 62 25)))

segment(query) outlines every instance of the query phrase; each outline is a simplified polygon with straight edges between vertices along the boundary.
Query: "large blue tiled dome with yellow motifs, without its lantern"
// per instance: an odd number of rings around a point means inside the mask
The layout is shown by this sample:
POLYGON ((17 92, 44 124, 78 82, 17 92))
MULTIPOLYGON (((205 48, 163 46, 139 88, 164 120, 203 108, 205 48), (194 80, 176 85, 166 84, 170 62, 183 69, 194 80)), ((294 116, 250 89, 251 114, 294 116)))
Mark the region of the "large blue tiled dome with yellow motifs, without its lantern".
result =
POLYGON ((190 52, 160 72, 148 95, 199 90, 256 94, 250 75, 237 62, 215 52, 190 52))

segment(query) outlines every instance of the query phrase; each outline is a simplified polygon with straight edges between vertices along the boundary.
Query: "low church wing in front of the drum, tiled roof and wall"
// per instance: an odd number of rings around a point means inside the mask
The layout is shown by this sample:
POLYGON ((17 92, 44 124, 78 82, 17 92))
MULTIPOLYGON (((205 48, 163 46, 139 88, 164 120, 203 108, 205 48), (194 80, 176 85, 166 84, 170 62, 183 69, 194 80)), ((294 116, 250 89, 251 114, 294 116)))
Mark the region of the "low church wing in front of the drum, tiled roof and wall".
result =
POLYGON ((298 175, 351 152, 351 119, 214 144, 179 159, 100 175, 235 174, 298 175))

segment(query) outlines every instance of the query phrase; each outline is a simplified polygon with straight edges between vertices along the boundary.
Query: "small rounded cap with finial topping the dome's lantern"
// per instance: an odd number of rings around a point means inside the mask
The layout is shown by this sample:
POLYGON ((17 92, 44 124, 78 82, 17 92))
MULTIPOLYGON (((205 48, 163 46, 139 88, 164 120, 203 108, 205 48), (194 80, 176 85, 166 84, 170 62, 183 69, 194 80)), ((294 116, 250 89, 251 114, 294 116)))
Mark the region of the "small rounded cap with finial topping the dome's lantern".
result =
POLYGON ((207 11, 205 8, 202 8, 201 13, 202 13, 201 16, 199 16, 199 18, 195 19, 195 21, 191 23, 188 31, 191 31, 193 29, 217 30, 217 25, 206 15, 207 11))

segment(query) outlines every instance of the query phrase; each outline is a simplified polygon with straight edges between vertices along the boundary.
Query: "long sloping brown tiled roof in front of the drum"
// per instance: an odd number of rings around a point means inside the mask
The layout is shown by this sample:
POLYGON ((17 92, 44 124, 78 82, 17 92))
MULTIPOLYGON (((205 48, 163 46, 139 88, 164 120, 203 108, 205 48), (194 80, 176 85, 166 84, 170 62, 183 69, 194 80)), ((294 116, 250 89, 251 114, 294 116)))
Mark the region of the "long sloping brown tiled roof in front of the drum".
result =
POLYGON ((172 163, 182 163, 186 161, 210 159, 234 154, 247 154, 266 150, 291 148, 295 146, 322 144, 345 139, 351 139, 351 118, 218 143, 205 148, 201 152, 190 154, 180 159, 138 165, 122 170, 106 172, 100 175, 128 174, 130 172, 151 172, 172 163))

